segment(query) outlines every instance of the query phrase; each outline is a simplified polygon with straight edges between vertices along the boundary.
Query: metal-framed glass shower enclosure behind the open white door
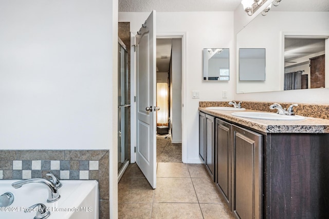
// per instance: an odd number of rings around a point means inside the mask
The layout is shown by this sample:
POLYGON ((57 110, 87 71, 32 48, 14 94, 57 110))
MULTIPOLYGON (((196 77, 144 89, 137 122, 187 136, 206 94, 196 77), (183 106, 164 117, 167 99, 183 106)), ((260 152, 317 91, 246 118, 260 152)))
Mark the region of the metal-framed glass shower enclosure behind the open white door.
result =
POLYGON ((130 77, 126 46, 118 38, 118 182, 129 165, 130 77))

